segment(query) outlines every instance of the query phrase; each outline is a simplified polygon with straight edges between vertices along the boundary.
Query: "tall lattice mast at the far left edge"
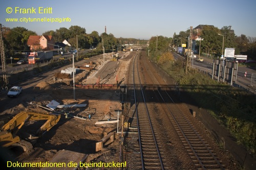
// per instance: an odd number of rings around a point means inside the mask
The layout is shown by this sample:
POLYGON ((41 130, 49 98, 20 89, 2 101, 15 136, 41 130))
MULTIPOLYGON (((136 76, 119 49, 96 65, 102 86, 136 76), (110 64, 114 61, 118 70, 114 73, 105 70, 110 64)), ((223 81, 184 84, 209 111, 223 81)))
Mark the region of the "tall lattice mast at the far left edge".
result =
POLYGON ((1 49, 1 59, 2 59, 2 74, 5 86, 8 85, 8 77, 7 77, 7 68, 6 68, 6 58, 5 58, 5 47, 3 41, 3 30, 2 24, 0 23, 0 49, 1 49))

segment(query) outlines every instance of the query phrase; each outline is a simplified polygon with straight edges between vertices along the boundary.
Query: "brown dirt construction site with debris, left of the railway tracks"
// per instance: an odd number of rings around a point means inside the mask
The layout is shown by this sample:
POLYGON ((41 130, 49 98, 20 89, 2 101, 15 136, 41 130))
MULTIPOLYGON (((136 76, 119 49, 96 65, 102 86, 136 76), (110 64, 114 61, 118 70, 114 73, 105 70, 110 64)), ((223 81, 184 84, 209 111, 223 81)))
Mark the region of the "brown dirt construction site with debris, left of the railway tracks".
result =
POLYGON ((47 162, 58 155, 66 164, 71 160, 119 162, 118 86, 126 81, 130 53, 121 52, 120 60, 113 60, 112 54, 81 60, 75 63, 75 74, 67 71, 73 68, 70 64, 18 82, 10 78, 23 91, 17 98, 0 93, 1 127, 12 127, 2 128, 2 134, 8 131, 13 138, 4 145, 11 148, 8 160, 47 162), (44 114, 57 118, 33 118, 44 114))

